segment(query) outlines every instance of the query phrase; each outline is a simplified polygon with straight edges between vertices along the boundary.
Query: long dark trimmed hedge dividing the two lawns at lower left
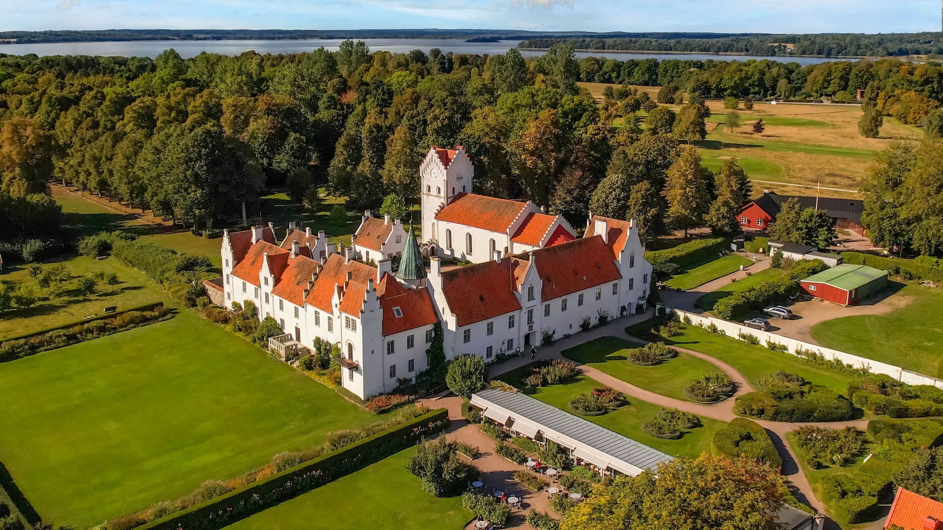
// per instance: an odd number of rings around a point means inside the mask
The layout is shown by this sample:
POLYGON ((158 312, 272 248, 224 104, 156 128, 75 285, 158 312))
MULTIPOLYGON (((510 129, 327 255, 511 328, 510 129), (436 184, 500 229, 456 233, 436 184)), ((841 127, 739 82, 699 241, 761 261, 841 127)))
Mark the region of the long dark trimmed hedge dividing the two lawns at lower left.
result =
POLYGON ((284 472, 230 491, 200 505, 140 526, 147 530, 223 528, 270 506, 337 480, 415 445, 448 425, 448 410, 439 408, 372 437, 356 441, 284 472))

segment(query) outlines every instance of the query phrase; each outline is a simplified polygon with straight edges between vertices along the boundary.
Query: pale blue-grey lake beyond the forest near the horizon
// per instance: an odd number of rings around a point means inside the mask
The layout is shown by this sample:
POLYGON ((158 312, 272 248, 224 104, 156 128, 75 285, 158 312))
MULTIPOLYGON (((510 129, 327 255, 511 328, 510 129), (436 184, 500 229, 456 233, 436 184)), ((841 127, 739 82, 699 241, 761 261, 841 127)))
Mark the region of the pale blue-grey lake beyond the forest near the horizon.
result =
MULTIPOLYGON (((240 55, 249 50, 259 54, 287 54, 309 52, 323 46, 330 51, 337 51, 342 39, 305 39, 283 41, 99 41, 99 42, 41 42, 25 44, 0 44, 0 53, 10 55, 36 54, 38 56, 123 56, 123 57, 157 57, 157 54, 167 48, 174 48, 183 58, 191 58, 200 52, 223 54, 228 56, 240 55)), ((428 52, 432 48, 439 48, 443 53, 494 55, 503 54, 521 41, 499 42, 466 42, 462 39, 363 39, 372 51, 386 50, 393 53, 405 53, 420 49, 428 52)), ((536 50, 521 50, 525 57, 537 57, 543 52, 536 50)), ((626 60, 629 58, 680 58, 705 60, 748 60, 759 58, 753 56, 715 55, 715 54, 653 54, 628 52, 576 52, 577 58, 601 57, 626 60)), ((774 58, 785 62, 800 64, 818 64, 835 58, 774 58)))

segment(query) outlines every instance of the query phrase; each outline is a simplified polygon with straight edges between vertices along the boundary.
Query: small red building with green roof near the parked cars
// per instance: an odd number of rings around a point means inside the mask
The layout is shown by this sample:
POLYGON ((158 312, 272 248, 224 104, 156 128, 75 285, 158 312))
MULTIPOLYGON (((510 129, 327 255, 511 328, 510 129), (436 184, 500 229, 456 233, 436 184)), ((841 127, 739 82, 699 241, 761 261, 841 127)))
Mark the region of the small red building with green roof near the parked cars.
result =
POLYGON ((852 306, 887 287, 887 272, 868 265, 836 265, 800 282, 802 290, 823 300, 852 306))

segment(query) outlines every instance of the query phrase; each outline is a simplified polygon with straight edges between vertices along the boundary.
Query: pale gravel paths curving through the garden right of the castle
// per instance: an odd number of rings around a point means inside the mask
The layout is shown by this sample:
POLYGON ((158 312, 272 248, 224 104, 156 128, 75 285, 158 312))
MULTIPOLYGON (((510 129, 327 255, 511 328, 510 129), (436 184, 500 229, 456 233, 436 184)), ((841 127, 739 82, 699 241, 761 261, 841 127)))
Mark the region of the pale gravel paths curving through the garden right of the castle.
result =
MULTIPOLYGON (((591 329, 587 332, 579 333, 568 338, 561 340, 556 340, 552 344, 542 346, 539 349, 538 358, 539 359, 552 359, 552 358, 566 358, 562 355, 562 352, 572 346, 582 344, 589 340, 601 338, 601 337, 619 337, 621 339, 629 339, 637 343, 645 343, 645 340, 638 339, 636 337, 631 337, 625 332, 625 328, 628 325, 633 323, 641 322, 650 318, 650 315, 632 315, 626 318, 616 319, 612 323, 608 323, 602 327, 597 327, 591 329)), ((727 364, 726 362, 721 361, 717 357, 709 356, 703 354, 702 352, 696 352, 694 350, 688 350, 687 348, 679 348, 676 346, 671 346, 679 352, 683 352, 690 356, 696 356, 711 364, 717 366, 721 371, 730 376, 731 379, 736 383, 737 389, 734 396, 752 392, 755 389, 750 381, 739 371, 736 370, 733 366, 727 364)), ((488 366, 488 376, 494 377, 501 373, 506 373, 515 368, 521 367, 525 364, 532 362, 529 356, 520 356, 512 358, 503 364, 492 364, 488 366)), ((617 389, 620 392, 626 394, 627 396, 633 396, 637 399, 653 403, 658 406, 665 407, 674 407, 681 410, 686 410, 693 414, 699 416, 705 416, 708 418, 713 418, 715 420, 720 420, 722 422, 730 422, 738 416, 734 413, 734 397, 723 400, 719 403, 713 404, 703 404, 703 403, 694 403, 690 401, 684 401, 679 399, 674 399, 670 397, 663 396, 661 394, 655 393, 651 390, 641 389, 631 383, 622 381, 619 378, 613 377, 608 373, 604 373, 597 368, 592 366, 587 366, 585 364, 577 363, 577 368, 587 377, 595 379, 600 383, 613 389, 617 389)), ((783 469, 782 474, 798 489, 797 498, 805 502, 807 505, 813 506, 819 513, 825 513, 825 506, 819 501, 816 497, 812 486, 809 484, 808 479, 805 476, 805 473, 802 472, 802 467, 799 465, 798 457, 789 446, 786 441, 786 433, 794 431, 802 427, 803 425, 819 425, 828 428, 841 428, 845 426, 854 426, 860 429, 866 429, 868 426, 868 420, 854 420, 849 422, 806 422, 806 423, 796 423, 796 422, 769 422, 767 420, 753 420, 754 422, 759 423, 767 430, 769 438, 772 439, 773 445, 775 445, 777 452, 783 458, 783 469)), ((834 522, 832 522, 834 525, 834 522)), ((880 528, 880 522, 874 522, 867 526, 880 528)), ((828 526, 827 526, 828 527, 828 526)), ((833 526, 835 527, 835 526, 833 526)))

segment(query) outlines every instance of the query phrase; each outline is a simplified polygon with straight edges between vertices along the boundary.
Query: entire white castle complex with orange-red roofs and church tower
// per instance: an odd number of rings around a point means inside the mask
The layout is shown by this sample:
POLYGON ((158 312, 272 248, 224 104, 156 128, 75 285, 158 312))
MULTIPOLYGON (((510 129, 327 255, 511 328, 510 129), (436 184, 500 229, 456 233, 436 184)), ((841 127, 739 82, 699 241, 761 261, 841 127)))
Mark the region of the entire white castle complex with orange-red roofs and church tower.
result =
POLYGON ((412 229, 369 211, 353 248, 293 224, 280 243, 272 224, 224 230, 225 305, 253 301, 260 320, 271 316, 302 346, 338 344, 341 383, 361 398, 425 370, 436 323, 446 358, 491 361, 645 306, 652 266, 635 222, 591 216, 577 239, 529 201, 472 193, 460 146, 431 148, 420 171, 428 269, 412 229), (445 257, 474 264, 444 267, 445 257))

